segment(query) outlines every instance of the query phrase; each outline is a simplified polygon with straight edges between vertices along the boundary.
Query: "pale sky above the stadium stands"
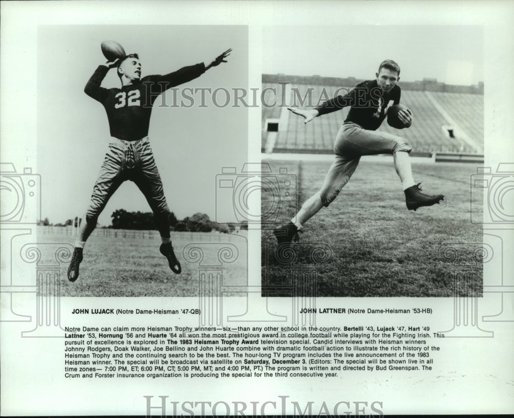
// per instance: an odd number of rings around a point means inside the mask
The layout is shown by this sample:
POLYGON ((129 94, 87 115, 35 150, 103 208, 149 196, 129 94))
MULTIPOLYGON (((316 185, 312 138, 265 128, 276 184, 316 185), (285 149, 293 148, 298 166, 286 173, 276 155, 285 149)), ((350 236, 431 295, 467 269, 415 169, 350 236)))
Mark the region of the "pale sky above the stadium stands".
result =
POLYGON ((270 26, 262 49, 263 73, 369 79, 392 59, 400 81, 484 81, 479 26, 270 26))

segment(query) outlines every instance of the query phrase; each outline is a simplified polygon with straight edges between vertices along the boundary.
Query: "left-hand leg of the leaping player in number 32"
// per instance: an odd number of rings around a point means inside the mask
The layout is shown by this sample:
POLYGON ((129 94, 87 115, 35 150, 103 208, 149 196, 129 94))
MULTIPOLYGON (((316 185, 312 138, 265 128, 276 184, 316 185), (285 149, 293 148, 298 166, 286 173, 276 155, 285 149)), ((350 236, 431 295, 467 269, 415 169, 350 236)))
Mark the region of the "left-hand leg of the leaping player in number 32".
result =
POLYGON ((98 216, 105 205, 123 183, 123 150, 116 144, 110 144, 100 174, 93 187, 91 201, 86 211, 85 222, 82 223, 79 237, 75 241, 75 249, 68 267, 68 280, 75 281, 79 278, 79 265, 83 260, 83 250, 87 238, 95 230, 98 216))

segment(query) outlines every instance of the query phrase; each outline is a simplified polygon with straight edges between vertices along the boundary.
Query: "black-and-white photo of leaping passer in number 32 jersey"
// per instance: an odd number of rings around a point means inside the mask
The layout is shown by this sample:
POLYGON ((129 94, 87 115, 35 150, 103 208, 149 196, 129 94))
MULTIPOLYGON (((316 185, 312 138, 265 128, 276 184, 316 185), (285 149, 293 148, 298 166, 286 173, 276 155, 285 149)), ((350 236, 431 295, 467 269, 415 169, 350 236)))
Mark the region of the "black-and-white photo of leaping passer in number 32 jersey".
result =
POLYGON ((62 295, 193 296, 194 242, 230 243, 224 279, 245 282, 214 179, 246 161, 247 84, 245 26, 39 27, 38 235, 74 247, 62 295))

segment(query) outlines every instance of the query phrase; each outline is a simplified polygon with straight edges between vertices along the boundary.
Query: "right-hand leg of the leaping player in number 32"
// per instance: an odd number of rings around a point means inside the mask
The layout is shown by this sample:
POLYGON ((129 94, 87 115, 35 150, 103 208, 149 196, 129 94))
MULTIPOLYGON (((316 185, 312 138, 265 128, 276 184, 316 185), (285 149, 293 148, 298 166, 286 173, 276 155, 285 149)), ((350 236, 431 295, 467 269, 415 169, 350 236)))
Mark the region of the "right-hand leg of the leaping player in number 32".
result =
POLYGON ((167 258, 170 269, 173 273, 179 274, 182 271, 180 262, 175 256, 170 235, 170 210, 164 197, 164 189, 155 164, 152 149, 148 138, 138 141, 137 151, 139 154, 139 170, 133 181, 143 193, 146 201, 154 213, 154 222, 161 236, 160 253, 167 258))

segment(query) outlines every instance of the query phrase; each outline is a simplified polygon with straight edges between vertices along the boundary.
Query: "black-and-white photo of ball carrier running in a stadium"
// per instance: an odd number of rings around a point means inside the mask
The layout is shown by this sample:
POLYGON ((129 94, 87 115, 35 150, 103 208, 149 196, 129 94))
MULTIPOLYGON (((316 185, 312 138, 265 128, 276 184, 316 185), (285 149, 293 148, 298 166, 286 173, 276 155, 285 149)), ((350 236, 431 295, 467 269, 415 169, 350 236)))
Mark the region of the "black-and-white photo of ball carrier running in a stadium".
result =
POLYGON ((483 36, 480 26, 263 31, 262 157, 292 183, 263 192, 274 221, 263 286, 310 267, 319 297, 453 296, 456 245, 475 264, 459 292, 482 294, 470 211, 482 216, 483 190, 470 202, 469 184, 484 161, 483 36))

